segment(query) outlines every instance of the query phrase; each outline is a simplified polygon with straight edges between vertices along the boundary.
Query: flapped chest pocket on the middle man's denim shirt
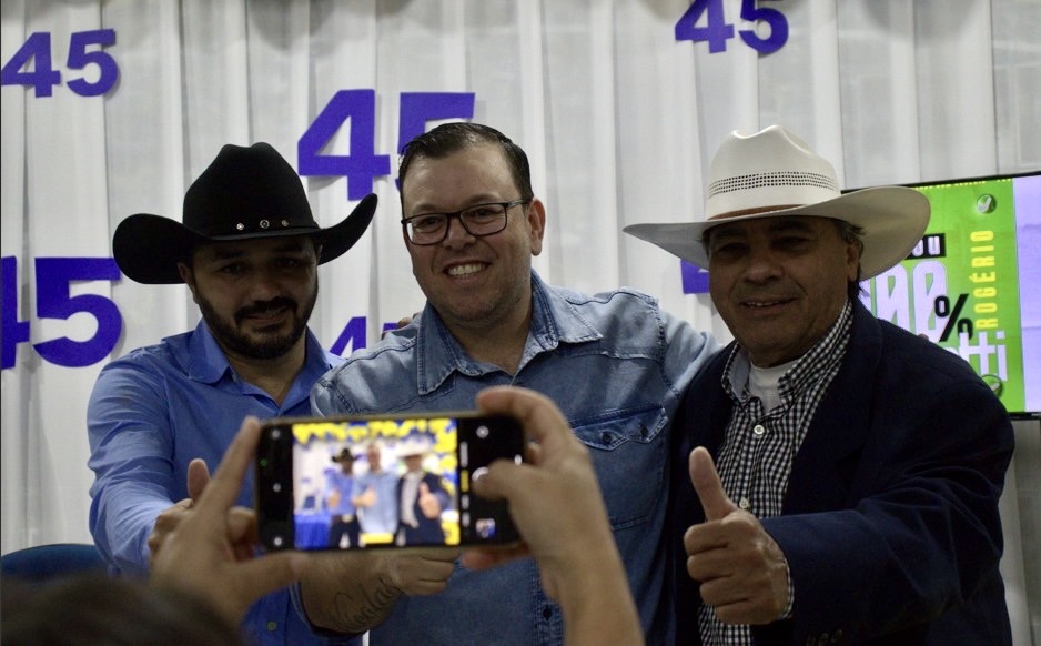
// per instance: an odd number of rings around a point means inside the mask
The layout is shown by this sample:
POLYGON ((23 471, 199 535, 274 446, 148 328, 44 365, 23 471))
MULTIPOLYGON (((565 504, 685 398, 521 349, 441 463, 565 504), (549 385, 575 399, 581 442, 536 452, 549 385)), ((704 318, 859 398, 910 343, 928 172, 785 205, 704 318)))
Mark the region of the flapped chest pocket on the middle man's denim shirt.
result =
POLYGON ((646 523, 664 504, 668 422, 665 408, 649 406, 572 424, 593 456, 612 529, 646 523))

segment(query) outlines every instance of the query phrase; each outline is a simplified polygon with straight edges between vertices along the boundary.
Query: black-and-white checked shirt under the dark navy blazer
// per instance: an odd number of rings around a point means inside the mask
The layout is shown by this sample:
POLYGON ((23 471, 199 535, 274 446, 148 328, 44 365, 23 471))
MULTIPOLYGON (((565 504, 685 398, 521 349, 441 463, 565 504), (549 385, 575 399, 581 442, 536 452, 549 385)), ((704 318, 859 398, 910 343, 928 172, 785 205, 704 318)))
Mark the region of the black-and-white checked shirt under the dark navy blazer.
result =
MULTIPOLYGON (((778 384, 781 403, 772 411, 765 411, 762 402, 748 392, 748 354, 735 345, 727 360, 721 385, 734 400, 734 413, 716 466, 730 499, 757 518, 781 513, 791 463, 846 354, 852 311, 847 301, 831 330, 785 373, 778 384)), ((788 606, 781 618, 790 616, 795 602, 790 577, 788 584, 788 606)), ((698 625, 701 644, 754 644, 750 626, 724 624, 714 606, 700 607, 698 625)))

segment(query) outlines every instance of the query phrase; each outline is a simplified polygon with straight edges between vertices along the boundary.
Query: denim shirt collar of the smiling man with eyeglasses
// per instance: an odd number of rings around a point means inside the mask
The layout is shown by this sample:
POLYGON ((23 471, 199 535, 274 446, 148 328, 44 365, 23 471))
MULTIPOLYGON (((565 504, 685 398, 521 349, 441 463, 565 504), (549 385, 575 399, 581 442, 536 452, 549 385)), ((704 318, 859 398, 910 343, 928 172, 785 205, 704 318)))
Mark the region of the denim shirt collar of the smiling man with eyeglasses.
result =
MULTIPOLYGON (((532 327, 518 371, 542 352, 555 350, 560 343, 585 343, 603 339, 558 290, 549 287, 532 270, 532 327)), ((423 310, 416 341, 416 371, 420 394, 435 391, 453 372, 479 376, 496 372, 497 366, 469 357, 448 332, 444 321, 429 302, 423 310)))

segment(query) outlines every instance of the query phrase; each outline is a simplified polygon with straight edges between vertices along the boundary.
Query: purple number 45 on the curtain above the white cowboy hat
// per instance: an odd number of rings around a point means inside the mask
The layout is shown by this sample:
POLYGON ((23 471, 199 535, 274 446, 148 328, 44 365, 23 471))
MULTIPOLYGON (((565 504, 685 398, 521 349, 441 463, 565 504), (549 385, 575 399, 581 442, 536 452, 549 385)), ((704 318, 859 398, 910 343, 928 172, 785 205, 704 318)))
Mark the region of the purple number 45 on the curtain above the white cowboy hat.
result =
MULTIPOLYGON (((741 20, 766 22, 770 36, 760 38, 755 29, 738 31, 745 44, 759 53, 772 53, 788 42, 788 19, 777 9, 757 7, 756 0, 741 0, 741 20)), ((708 42, 708 52, 727 51, 727 41, 734 38, 734 24, 727 22, 724 0, 694 0, 694 3, 676 21, 676 40, 708 42), (704 17, 704 26, 699 22, 704 17)))

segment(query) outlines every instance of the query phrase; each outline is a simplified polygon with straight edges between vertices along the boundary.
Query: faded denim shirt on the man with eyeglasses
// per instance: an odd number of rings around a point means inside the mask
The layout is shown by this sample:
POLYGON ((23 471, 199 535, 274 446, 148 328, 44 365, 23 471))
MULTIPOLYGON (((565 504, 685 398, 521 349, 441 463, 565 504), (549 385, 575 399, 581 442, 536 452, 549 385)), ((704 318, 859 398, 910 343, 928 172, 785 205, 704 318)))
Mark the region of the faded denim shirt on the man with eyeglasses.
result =
MULTIPOLYGON (((323 415, 465 410, 477 392, 503 384, 548 395, 593 454, 648 643, 670 642, 663 544, 669 421, 718 344, 631 290, 587 296, 534 272, 532 287, 532 330, 516 375, 467 356, 427 304, 410 325, 319 380, 312 407, 323 415)), ((562 644, 562 619, 534 561, 485 572, 457 564, 445 592, 402 596, 370 643, 562 644)))

